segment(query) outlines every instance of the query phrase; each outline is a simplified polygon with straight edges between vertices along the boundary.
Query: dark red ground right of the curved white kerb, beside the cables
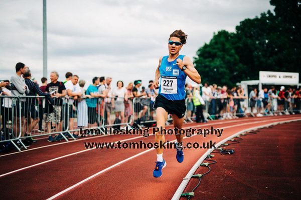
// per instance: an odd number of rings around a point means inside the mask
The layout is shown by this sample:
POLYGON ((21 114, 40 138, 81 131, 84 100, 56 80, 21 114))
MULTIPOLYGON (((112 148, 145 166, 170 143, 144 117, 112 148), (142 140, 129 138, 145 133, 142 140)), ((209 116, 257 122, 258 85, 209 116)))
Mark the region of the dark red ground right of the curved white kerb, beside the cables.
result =
MULTIPOLYGON (((211 159, 217 163, 210 165, 192 199, 301 199, 301 123, 256 132, 241 136, 240 143, 227 142, 232 144, 225 148, 234 154, 214 153, 211 159)), ((206 171, 199 167, 195 174, 206 171)), ((184 191, 192 191, 197 183, 192 178, 184 191)))

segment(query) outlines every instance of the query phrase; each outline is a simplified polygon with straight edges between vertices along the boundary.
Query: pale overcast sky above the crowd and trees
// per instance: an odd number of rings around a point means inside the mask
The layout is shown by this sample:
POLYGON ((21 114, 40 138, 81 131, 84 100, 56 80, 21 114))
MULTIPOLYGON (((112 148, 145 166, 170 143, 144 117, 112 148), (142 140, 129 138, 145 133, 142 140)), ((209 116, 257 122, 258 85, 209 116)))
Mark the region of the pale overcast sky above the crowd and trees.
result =
MULTIPOLYGON (((188 34, 181 54, 193 59, 213 32, 234 31, 268 9, 269 0, 48 0, 47 78, 57 70, 60 80, 71 71, 87 84, 111 76, 113 86, 119 79, 147 85, 175 29, 188 34)), ((40 83, 43 0, 0 0, 0 79, 10 79, 19 61, 40 83)))

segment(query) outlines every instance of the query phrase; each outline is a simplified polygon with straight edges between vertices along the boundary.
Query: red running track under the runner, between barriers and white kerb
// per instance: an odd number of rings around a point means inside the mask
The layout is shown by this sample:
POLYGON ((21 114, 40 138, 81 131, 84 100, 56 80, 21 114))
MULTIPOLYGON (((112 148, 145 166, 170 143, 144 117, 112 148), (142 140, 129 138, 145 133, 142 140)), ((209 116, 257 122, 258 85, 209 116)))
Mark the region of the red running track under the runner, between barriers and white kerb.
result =
MULTIPOLYGON (((216 120, 207 124, 186 124, 185 127, 208 128, 213 125, 214 128, 224 127, 225 129, 221 137, 210 135, 204 138, 202 135, 195 135, 185 138, 184 142, 201 143, 209 140, 218 142, 246 128, 291 119, 301 119, 301 115, 249 117, 238 120, 216 120)), ((112 142, 124 139, 127 139, 127 142, 140 139, 144 142, 153 142, 154 136, 137 138, 137 135, 109 135, 90 137, 85 141, 112 142)), ((166 139, 174 140, 175 136, 166 135, 166 139)), ((161 178, 154 178, 155 149, 85 150, 83 142, 83 140, 63 142, 59 145, 1 156, 0 188, 3 199, 46 199, 58 193, 60 195, 57 195, 57 198, 62 199, 109 199, 112 197, 116 199, 170 199, 182 178, 207 151, 207 149, 185 149, 184 162, 178 163, 175 158, 175 149, 165 149, 164 158, 167 161, 167 167, 163 169, 161 178), (134 155, 136 157, 130 158, 134 155), (64 157, 58 159, 60 156, 64 157), (125 161, 127 158, 130 159, 125 161), (119 164, 116 164, 118 162, 119 164), (37 165, 32 166, 33 164, 37 165), (23 167, 28 168, 19 170, 23 167), (14 170, 19 171, 12 172, 14 170), (9 174, 4 175, 6 173, 9 174), (83 181, 96 173, 98 174, 94 177, 83 181)), ((49 143, 44 143, 44 145, 49 145, 49 143)))

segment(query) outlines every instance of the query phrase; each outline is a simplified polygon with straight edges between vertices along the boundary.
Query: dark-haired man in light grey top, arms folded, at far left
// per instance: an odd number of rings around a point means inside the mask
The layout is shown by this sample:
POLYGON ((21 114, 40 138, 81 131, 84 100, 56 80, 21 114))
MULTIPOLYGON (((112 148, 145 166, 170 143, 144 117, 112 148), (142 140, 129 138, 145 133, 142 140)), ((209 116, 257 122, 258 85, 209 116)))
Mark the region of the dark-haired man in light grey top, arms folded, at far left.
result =
MULTIPOLYGON (((18 129, 18 127, 20 127, 20 117, 21 117, 21 127, 23 127, 23 125, 25 124, 24 121, 24 110, 25 110, 25 98, 22 98, 22 96, 25 96, 26 94, 29 93, 29 88, 27 86, 27 84, 25 83, 24 78, 21 76, 25 73, 27 66, 25 66, 24 63, 22 62, 18 62, 16 64, 16 75, 11 77, 11 83, 14 84, 15 89, 12 90, 12 95, 13 96, 20 96, 20 101, 21 101, 21 107, 19 106, 19 103, 17 102, 16 104, 16 114, 14 114, 15 116, 17 115, 16 118, 16 122, 14 123, 14 132, 16 134, 18 134, 18 132, 22 131, 21 136, 24 136, 25 131, 24 128, 21 130, 18 129), (21 116, 19 115, 19 110, 21 109, 21 116)), ((17 136, 17 135, 16 135, 17 136)), ((22 140, 23 143, 26 146, 29 146, 31 144, 31 142, 28 139, 23 139, 22 140)))

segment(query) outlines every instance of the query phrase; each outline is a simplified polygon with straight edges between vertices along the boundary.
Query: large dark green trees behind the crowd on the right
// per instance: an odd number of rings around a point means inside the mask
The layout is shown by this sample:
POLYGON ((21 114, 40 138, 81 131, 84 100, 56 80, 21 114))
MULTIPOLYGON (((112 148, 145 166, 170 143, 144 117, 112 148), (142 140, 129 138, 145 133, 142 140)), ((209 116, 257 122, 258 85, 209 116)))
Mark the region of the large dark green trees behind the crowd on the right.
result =
POLYGON ((271 0, 271 11, 244 19, 236 32, 220 30, 197 51, 202 82, 235 85, 258 79, 259 70, 301 75, 300 0, 271 0))

